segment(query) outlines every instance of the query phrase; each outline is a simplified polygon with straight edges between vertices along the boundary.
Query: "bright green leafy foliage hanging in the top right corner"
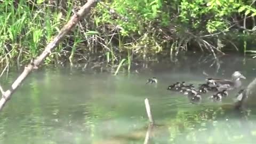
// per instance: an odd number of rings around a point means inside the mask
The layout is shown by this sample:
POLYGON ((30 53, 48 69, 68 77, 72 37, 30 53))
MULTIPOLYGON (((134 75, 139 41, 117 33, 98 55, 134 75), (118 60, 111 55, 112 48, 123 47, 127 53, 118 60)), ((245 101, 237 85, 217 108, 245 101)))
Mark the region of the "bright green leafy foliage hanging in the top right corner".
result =
POLYGON ((255 8, 234 0, 182 0, 180 7, 181 22, 191 23, 193 28, 204 27, 209 33, 228 29, 232 24, 229 19, 234 13, 245 11, 245 15, 256 15, 255 8))

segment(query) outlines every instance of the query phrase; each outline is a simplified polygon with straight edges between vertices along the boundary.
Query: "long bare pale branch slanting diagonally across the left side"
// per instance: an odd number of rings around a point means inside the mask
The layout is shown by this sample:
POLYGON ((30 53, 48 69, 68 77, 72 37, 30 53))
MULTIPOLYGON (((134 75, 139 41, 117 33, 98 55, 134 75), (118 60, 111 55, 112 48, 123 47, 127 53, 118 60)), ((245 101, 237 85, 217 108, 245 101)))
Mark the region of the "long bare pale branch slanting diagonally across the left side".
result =
POLYGON ((68 32, 75 27, 76 23, 81 20, 81 18, 90 12, 91 8, 95 6, 97 3, 97 0, 88 0, 85 5, 81 7, 81 9, 75 13, 68 23, 60 30, 59 34, 52 39, 52 41, 47 44, 44 51, 42 52, 39 57, 37 57, 35 60, 31 61, 28 66, 25 66, 23 72, 20 74, 20 76, 13 82, 11 85, 11 88, 7 91, 4 91, 1 88, 2 98, 0 100, 0 110, 3 109, 5 103, 11 98, 11 95, 14 93, 15 90, 19 87, 19 85, 24 81, 24 79, 31 73, 33 69, 37 69, 37 67, 40 65, 40 63, 51 53, 52 50, 57 47, 61 39, 68 34, 68 32))

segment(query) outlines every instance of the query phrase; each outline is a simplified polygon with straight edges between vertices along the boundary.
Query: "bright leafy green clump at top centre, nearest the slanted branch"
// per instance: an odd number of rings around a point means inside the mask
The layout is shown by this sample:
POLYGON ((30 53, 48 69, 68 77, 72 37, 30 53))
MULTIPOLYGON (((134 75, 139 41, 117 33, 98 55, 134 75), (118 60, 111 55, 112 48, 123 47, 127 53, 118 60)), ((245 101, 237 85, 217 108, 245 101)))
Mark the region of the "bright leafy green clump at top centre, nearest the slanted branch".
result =
MULTIPOLYGON (((95 22, 97 26, 104 23, 118 26, 123 36, 140 33, 150 21, 155 21, 159 17, 162 4, 162 0, 114 1, 108 4, 110 12, 99 4, 97 12, 101 17, 95 18, 95 22)), ((167 15, 163 17, 166 19, 167 15)), ((166 24, 166 20, 164 22, 166 24)))

